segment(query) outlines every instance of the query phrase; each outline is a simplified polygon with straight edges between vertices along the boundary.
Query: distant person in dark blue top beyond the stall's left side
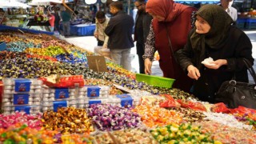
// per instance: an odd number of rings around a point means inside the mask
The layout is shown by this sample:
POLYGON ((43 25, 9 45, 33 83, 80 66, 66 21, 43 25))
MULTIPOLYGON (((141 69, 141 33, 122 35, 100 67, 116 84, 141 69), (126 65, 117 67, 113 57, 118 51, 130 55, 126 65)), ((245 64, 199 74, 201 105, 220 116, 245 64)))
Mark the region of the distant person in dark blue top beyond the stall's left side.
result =
POLYGON ((65 7, 62 7, 61 18, 62 18, 63 34, 65 37, 70 36, 71 14, 67 12, 65 7))

